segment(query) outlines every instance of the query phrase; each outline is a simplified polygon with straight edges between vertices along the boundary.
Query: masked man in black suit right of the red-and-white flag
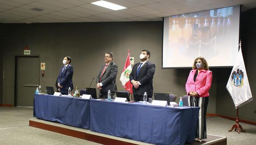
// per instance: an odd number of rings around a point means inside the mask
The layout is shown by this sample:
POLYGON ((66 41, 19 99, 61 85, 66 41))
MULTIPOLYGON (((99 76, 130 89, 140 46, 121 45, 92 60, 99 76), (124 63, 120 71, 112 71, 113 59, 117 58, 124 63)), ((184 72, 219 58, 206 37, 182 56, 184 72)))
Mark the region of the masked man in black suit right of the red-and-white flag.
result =
POLYGON ((147 100, 153 95, 155 65, 148 61, 150 51, 142 50, 139 58, 141 62, 136 63, 130 73, 134 101, 143 101, 144 92, 147 92, 147 100))

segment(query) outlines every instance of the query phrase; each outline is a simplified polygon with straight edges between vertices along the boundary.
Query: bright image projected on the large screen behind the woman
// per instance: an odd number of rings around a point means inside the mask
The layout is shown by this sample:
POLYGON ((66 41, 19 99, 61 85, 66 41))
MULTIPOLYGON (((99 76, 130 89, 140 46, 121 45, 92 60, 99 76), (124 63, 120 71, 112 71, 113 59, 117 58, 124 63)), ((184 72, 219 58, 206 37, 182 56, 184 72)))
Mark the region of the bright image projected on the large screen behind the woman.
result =
POLYGON ((210 66, 232 66, 238 53, 239 8, 166 17, 163 67, 191 67, 198 56, 206 58, 210 66))

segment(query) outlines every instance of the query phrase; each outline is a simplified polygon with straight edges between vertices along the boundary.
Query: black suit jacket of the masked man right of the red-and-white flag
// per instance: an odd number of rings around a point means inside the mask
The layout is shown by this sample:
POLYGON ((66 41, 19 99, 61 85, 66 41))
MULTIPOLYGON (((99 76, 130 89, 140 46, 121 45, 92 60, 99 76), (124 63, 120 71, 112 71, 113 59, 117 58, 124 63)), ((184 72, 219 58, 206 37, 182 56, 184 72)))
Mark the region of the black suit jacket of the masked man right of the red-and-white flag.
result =
POLYGON ((130 73, 130 81, 136 80, 141 83, 137 89, 132 86, 132 92, 134 95, 143 95, 144 92, 147 92, 147 95, 153 95, 153 76, 155 71, 155 65, 151 62, 146 62, 139 70, 139 76, 137 75, 137 68, 139 67, 139 63, 136 63, 133 68, 132 72, 130 73))

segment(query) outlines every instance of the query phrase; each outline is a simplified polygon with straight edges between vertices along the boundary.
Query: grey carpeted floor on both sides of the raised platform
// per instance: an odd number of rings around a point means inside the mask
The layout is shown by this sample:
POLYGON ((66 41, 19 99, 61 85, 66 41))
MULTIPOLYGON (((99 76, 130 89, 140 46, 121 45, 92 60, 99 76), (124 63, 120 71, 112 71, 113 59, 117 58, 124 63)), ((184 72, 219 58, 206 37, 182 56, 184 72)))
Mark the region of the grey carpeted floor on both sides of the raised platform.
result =
MULTIPOLYGON (((0 145, 100 145, 34 127, 29 127, 33 108, 0 107, 0 145)), ((228 145, 256 145, 256 126, 240 123, 245 133, 228 132, 235 122, 207 117, 207 134, 227 137, 228 145)))

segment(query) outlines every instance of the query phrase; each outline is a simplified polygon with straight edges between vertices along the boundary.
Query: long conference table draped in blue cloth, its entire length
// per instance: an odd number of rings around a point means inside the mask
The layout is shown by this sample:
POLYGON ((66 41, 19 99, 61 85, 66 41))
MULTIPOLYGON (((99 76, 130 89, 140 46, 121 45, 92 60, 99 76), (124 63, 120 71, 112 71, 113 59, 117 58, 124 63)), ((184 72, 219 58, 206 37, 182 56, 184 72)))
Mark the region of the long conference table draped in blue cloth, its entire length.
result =
POLYGON ((193 142, 199 109, 34 95, 39 119, 157 145, 193 142))

